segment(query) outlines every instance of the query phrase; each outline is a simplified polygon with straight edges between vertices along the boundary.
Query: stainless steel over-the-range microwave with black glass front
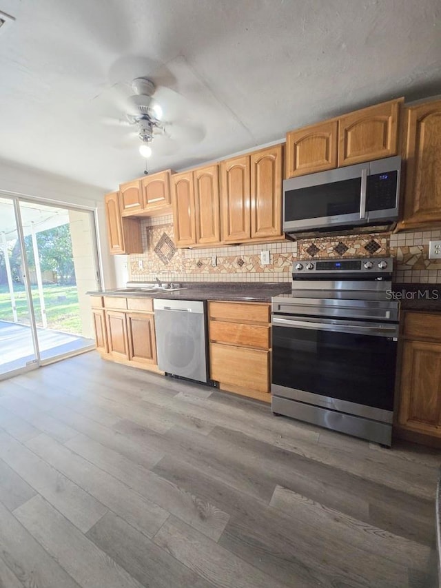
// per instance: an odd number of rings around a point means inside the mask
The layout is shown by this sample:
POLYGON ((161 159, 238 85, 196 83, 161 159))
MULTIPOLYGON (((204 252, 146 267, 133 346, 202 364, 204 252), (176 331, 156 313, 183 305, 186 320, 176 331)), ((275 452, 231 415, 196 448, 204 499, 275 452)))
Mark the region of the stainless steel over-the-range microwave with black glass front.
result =
POLYGON ((283 182, 283 231, 383 225, 398 219, 401 158, 387 157, 283 182))

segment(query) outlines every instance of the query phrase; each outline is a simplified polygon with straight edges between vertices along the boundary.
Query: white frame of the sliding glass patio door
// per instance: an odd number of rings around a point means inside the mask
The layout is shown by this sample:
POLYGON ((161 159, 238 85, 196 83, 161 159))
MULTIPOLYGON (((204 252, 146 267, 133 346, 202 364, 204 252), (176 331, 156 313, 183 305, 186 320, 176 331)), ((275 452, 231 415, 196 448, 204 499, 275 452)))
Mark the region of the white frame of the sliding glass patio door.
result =
POLYGON ((14 205, 14 214, 15 214, 15 222, 17 225, 17 236, 20 243, 20 250, 21 250, 21 258, 23 263, 23 281, 25 286, 25 294, 26 299, 28 301, 28 309, 30 314, 30 330, 32 333, 32 345, 34 347, 34 356, 35 359, 29 365, 24 365, 23 367, 19 367, 17 369, 12 369, 10 372, 6 372, 5 374, 0 374, 0 381, 6 380, 13 376, 19 376, 20 374, 24 374, 26 372, 30 372, 33 369, 37 369, 43 365, 49 365, 50 363, 55 363, 57 361, 61 361, 62 359, 72 357, 78 355, 79 353, 83 353, 86 351, 90 351, 95 348, 95 345, 90 345, 88 347, 84 347, 81 351, 72 351, 65 354, 60 354, 54 357, 50 357, 47 359, 42 359, 41 354, 39 351, 39 344, 38 344, 38 333, 37 333, 37 320, 34 311, 34 303, 32 301, 32 291, 30 286, 30 273, 29 273, 29 265, 28 265, 28 258, 25 254, 25 239, 24 239, 24 232, 23 232, 23 224, 21 221, 21 211, 20 211, 20 203, 30 202, 30 203, 39 203, 41 205, 47 206, 57 206, 59 208, 64 208, 66 210, 79 210, 80 212, 88 212, 89 219, 90 219, 90 232, 92 237, 92 256, 94 260, 94 265, 96 269, 96 289, 101 290, 102 284, 102 277, 103 276, 103 266, 101 261, 101 255, 99 254, 99 239, 98 239, 98 211, 96 207, 90 206, 81 206, 75 204, 68 204, 63 201, 57 201, 52 199, 45 199, 45 198, 38 198, 32 197, 25 194, 11 194, 6 190, 0 190, 0 196, 3 196, 6 199, 10 199, 14 205))

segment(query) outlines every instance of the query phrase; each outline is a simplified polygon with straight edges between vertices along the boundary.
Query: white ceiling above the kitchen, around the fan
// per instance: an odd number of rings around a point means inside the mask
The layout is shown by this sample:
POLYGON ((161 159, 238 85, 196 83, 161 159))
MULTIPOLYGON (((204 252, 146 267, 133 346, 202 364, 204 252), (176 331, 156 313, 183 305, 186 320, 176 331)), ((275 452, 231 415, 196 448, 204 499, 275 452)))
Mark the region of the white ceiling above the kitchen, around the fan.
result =
MULTIPOLYGON (((118 88, 180 94, 202 141, 151 171, 227 156, 369 103, 440 93, 439 0, 0 0, 0 158, 106 190, 144 160, 118 88)), ((154 148, 154 143, 152 145, 154 148)), ((0 186, 1 187, 1 186, 0 186)))

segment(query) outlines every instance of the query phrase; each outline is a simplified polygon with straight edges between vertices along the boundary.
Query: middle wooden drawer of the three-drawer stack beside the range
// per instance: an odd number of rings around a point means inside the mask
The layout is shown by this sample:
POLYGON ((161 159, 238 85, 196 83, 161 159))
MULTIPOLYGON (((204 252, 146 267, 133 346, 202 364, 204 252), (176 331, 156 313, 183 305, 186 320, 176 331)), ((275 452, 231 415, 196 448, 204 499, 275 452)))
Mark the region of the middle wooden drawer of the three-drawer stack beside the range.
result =
POLYGON ((269 349, 269 327, 209 321, 209 340, 215 343, 269 349))

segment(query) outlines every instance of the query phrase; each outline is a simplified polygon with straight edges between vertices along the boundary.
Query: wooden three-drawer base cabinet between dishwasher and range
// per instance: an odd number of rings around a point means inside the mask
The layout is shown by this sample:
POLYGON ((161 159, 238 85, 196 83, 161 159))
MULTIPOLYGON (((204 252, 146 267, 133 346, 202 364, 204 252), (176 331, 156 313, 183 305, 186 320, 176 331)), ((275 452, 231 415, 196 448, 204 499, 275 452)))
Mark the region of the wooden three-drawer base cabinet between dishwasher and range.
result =
POLYGON ((210 377, 220 389, 271 401, 269 305, 209 302, 210 377))

